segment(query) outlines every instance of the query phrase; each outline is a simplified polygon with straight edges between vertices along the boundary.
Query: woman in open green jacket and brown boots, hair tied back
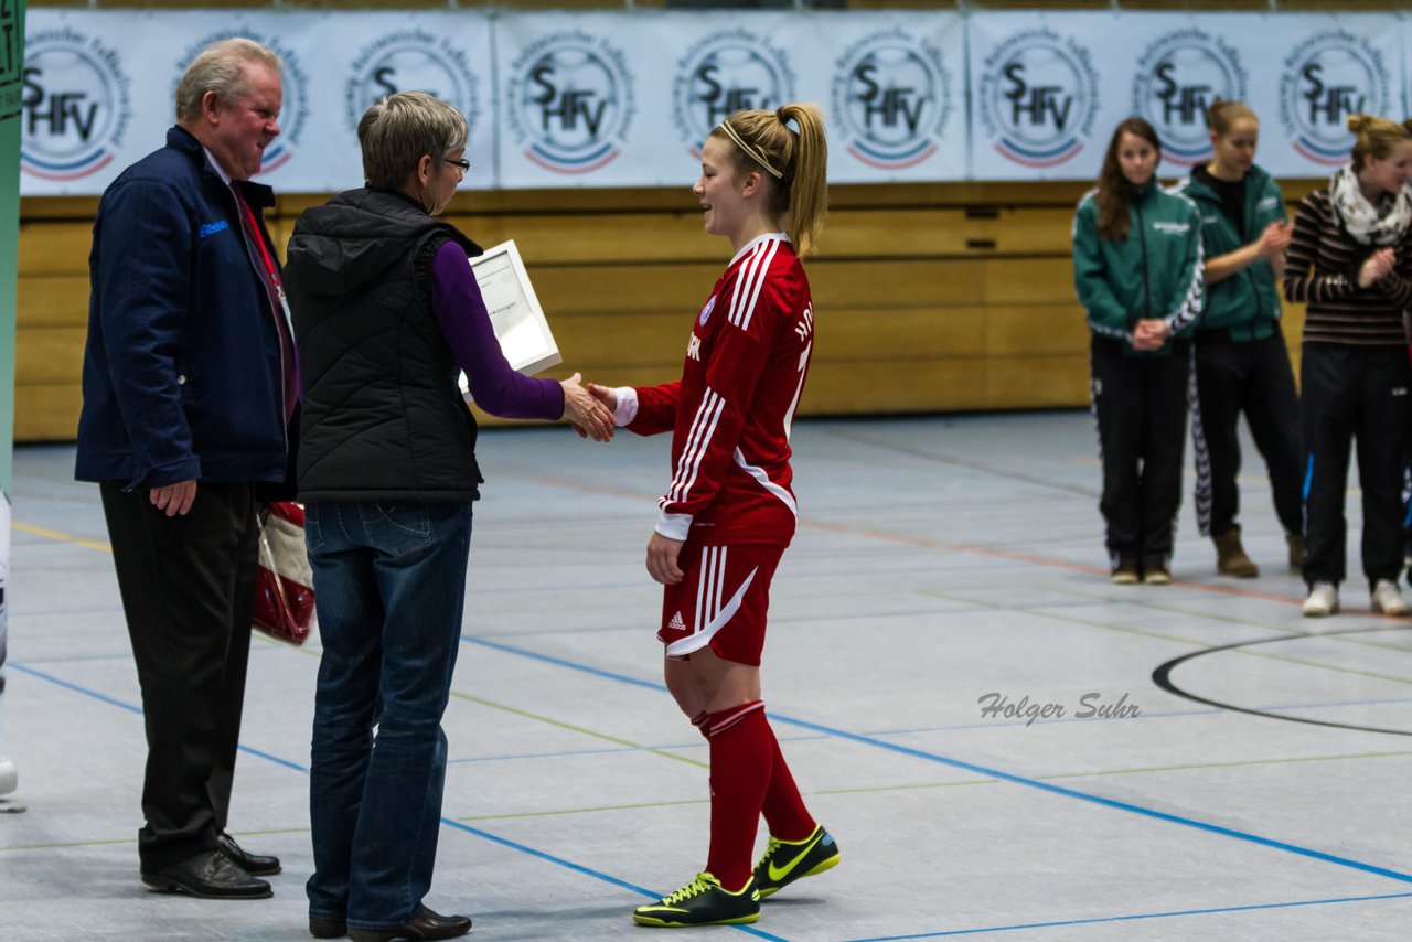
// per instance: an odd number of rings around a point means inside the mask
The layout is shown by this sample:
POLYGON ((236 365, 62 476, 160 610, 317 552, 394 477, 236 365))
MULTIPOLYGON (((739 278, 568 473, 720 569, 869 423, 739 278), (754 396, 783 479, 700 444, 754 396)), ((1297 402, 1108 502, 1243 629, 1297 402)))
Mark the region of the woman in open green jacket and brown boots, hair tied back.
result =
POLYGON ((1254 578, 1260 568, 1240 539, 1241 412, 1265 459, 1275 514, 1285 527, 1289 566, 1303 565, 1299 467, 1299 394, 1279 330, 1279 288, 1292 232, 1285 198, 1254 165, 1260 121, 1241 102, 1206 110, 1211 161, 1196 167, 1178 192, 1202 212, 1206 312, 1196 330, 1196 523, 1216 544, 1216 569, 1254 578))

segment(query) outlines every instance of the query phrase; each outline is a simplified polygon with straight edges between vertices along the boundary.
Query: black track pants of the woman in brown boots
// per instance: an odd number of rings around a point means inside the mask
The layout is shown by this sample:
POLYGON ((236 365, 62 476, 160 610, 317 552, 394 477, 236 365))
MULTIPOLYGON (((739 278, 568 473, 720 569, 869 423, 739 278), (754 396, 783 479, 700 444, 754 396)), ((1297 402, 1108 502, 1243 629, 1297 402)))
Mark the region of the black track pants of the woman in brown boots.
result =
POLYGON ((1240 514, 1240 417, 1265 459, 1275 514, 1285 532, 1303 531, 1299 393, 1285 339, 1238 343, 1226 330, 1196 335, 1196 523, 1203 537, 1231 530, 1240 514))

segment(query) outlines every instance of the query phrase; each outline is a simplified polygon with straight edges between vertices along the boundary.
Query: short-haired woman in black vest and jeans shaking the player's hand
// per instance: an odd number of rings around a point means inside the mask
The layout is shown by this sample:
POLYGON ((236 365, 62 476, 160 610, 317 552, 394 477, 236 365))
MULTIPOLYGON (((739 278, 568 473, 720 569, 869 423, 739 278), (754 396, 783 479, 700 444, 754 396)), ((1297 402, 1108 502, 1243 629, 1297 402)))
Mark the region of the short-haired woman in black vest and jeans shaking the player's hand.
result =
POLYGON ((500 352, 467 264, 480 249, 435 219, 470 168, 465 117, 400 92, 369 109, 357 134, 367 186, 305 212, 285 267, 304 377, 299 494, 323 641, 309 932, 448 939, 470 919, 438 915, 422 897, 481 483, 457 374, 497 415, 566 418, 597 441, 611 436, 613 415, 578 374, 528 378, 500 352))

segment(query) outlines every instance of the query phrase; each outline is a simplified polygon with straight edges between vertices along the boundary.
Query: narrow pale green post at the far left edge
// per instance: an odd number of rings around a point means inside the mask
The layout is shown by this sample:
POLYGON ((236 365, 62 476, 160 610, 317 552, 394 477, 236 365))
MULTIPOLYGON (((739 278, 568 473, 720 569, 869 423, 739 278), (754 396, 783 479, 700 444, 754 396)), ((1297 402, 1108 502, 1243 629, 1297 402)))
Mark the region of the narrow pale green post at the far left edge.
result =
POLYGON ((24 0, 0 0, 0 795, 16 789, 4 751, 4 658, 10 621, 10 494, 14 479, 14 308, 20 264, 20 99, 24 0))

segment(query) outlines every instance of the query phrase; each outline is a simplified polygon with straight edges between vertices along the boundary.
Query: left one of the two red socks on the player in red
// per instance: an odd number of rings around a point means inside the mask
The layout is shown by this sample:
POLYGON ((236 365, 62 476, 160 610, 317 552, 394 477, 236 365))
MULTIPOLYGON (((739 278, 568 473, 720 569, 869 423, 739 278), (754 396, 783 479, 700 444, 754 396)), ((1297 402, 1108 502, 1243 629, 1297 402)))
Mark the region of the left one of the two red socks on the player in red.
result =
POLYGON ((706 869, 731 893, 750 881, 760 805, 774 764, 764 706, 751 700, 712 713, 706 723, 710 739, 710 853, 706 869))

